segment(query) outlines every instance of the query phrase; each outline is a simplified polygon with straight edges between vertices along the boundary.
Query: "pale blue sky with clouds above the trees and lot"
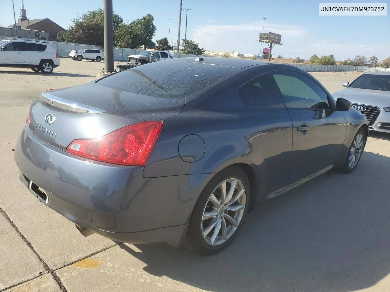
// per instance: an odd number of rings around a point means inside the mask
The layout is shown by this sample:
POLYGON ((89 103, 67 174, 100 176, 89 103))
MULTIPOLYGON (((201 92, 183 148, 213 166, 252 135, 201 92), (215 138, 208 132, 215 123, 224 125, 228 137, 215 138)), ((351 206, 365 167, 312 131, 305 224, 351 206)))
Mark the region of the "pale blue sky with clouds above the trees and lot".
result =
MULTIPOLYGON (((275 45, 272 50, 274 57, 308 59, 313 54, 333 54, 336 60, 343 60, 356 55, 368 58, 375 55, 382 60, 390 56, 390 16, 318 16, 318 3, 313 0, 183 0, 183 8, 191 9, 188 12, 187 39, 211 51, 257 55, 261 52, 259 32, 263 30, 263 18, 266 18, 264 32, 282 35, 283 44, 275 45)), ((14 0, 14 4, 17 20, 21 0, 14 0)), ((28 18, 50 18, 68 28, 73 18, 89 10, 103 8, 103 0, 24 0, 24 5, 28 18)), ((114 13, 125 22, 142 18, 147 13, 154 16, 157 28, 155 40, 169 36, 170 41, 177 41, 179 7, 180 0, 113 0, 114 13)), ((0 0, 0 26, 12 23, 12 0, 0 0)), ((181 39, 184 39, 185 26, 186 14, 183 11, 181 39)))

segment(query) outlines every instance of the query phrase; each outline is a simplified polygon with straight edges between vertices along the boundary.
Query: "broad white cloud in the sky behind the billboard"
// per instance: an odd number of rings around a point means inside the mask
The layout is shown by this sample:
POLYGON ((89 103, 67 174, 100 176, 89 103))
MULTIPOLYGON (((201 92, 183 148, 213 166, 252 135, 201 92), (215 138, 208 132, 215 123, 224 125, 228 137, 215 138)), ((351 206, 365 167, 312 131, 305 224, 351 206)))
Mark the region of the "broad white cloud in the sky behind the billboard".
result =
MULTIPOLYGON (((262 21, 250 23, 218 25, 206 21, 206 24, 193 29, 193 40, 199 46, 213 51, 240 51, 241 53, 259 52, 259 32, 263 29, 262 21)), ((282 35, 282 42, 297 43, 307 31, 298 25, 266 23, 264 32, 282 35)))

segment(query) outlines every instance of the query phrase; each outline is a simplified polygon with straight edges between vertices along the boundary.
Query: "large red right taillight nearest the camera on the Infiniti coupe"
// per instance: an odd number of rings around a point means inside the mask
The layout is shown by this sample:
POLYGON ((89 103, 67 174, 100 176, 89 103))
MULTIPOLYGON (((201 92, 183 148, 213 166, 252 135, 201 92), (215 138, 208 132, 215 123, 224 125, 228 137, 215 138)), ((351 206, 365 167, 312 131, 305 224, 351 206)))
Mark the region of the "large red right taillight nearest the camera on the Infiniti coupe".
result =
POLYGON ((68 153, 93 160, 143 166, 160 135, 162 121, 129 125, 100 139, 77 139, 66 148, 68 153))

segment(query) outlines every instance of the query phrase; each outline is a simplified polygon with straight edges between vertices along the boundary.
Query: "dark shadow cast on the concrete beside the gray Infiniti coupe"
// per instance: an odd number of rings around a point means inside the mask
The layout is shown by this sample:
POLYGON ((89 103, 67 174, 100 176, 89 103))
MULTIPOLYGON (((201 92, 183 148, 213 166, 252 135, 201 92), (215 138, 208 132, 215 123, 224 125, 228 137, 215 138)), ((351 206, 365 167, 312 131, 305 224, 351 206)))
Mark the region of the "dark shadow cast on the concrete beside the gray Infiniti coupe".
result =
POLYGON ((235 241, 201 257, 164 245, 120 247, 144 271, 221 292, 346 292, 390 272, 390 158, 365 152, 355 172, 323 174, 258 204, 235 241))

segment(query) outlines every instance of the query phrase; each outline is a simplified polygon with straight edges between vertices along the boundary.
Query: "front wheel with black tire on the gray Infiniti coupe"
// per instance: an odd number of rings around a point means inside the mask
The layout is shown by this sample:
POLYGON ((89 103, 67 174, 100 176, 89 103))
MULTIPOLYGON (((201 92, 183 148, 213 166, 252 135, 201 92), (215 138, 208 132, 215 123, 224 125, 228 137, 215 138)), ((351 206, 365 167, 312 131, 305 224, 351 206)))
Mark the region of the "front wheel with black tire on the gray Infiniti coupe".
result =
POLYGON ((349 146, 347 157, 345 159, 344 165, 340 169, 340 172, 351 173, 355 170, 360 161, 360 158, 362 158, 366 139, 367 137, 364 129, 360 128, 358 132, 356 132, 355 137, 353 137, 353 141, 351 146, 349 146))

